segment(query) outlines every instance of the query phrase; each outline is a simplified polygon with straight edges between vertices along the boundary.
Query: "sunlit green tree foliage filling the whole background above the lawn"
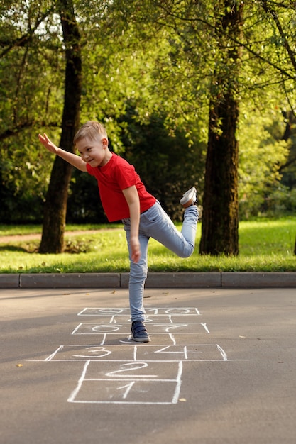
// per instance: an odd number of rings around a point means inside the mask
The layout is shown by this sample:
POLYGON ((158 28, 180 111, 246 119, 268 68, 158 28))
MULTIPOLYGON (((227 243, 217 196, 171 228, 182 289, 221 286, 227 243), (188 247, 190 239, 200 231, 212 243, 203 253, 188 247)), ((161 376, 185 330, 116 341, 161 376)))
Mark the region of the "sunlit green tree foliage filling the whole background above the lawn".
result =
MULTIPOLYGON (((111 148, 136 166, 172 218, 182 218, 177 202, 193 184, 202 209, 210 104, 218 109, 229 93, 238 106, 231 138, 238 144, 239 218, 295 211, 290 1, 18 0, 0 5, 2 223, 43 221, 53 157, 37 135, 45 131, 59 144, 67 127, 65 72, 73 48, 65 43, 65 12, 80 33, 80 123, 104 123, 111 148), (238 7, 240 26, 232 33, 226 18, 232 25, 238 7)), ((219 140, 225 118, 216 117, 219 140)), ((211 179, 217 183, 219 170, 211 179)), ((222 180, 222 197, 223 188, 222 180)), ((210 194, 207 208, 218 199, 210 194)), ((224 219, 221 211, 215 209, 217 220, 224 219)), ((203 223, 211 225, 207 219, 205 213, 203 223)), ((105 220, 97 184, 73 172, 67 221, 105 220)))

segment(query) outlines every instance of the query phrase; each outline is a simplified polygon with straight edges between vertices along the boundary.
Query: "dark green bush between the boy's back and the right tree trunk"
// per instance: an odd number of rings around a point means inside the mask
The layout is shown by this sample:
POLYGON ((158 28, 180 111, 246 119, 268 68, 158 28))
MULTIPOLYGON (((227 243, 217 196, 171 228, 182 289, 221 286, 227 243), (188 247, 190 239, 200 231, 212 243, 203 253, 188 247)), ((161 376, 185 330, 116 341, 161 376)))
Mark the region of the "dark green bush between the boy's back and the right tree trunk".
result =
POLYGON ((165 211, 175 221, 181 221, 180 196, 192 186, 202 189, 204 145, 199 138, 188 140, 181 129, 170 133, 160 114, 140 123, 134 110, 129 111, 123 119, 127 123, 122 135, 125 157, 165 211))

